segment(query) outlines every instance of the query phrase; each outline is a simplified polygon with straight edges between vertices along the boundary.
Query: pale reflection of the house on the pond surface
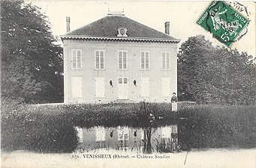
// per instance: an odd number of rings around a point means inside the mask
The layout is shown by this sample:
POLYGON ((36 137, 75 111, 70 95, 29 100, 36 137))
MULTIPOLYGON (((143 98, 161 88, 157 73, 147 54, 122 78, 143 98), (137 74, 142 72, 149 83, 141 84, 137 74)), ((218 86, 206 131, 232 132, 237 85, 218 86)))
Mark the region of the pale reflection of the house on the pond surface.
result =
MULTIPOLYGON (((143 128, 76 128, 79 149, 89 152, 94 149, 117 149, 120 151, 143 152, 146 138, 143 128)), ((152 128, 151 145, 153 152, 171 152, 178 146, 177 125, 152 128)))

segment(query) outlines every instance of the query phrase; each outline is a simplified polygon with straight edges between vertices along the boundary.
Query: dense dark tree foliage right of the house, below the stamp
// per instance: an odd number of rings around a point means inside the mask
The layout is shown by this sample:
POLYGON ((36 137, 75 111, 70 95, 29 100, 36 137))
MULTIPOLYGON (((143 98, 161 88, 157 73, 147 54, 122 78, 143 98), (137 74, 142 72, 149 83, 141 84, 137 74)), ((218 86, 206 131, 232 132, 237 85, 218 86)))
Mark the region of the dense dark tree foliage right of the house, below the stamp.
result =
POLYGON ((199 35, 182 43, 178 57, 178 90, 183 99, 229 105, 254 103, 256 65, 251 55, 212 46, 199 35))

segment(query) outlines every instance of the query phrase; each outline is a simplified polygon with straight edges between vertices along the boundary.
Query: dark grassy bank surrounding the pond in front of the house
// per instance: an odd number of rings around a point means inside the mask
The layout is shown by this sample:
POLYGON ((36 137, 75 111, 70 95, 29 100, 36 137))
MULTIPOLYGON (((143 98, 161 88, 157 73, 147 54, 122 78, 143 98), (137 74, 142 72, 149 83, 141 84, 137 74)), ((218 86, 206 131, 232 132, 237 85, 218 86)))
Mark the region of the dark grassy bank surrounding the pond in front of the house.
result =
POLYGON ((178 124, 183 149, 256 147, 255 106, 137 103, 107 105, 20 105, 4 107, 2 149, 72 152, 77 147, 74 126, 158 127, 178 124), (149 113, 163 117, 149 122, 149 113))

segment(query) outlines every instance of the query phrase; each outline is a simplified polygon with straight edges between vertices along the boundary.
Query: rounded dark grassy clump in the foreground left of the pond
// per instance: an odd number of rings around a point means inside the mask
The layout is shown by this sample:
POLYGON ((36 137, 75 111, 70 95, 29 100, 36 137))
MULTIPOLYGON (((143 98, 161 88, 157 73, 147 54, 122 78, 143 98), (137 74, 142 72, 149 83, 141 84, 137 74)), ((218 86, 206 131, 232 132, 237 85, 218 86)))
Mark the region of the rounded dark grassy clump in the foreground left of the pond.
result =
POLYGON ((77 148, 76 131, 70 122, 34 110, 20 105, 2 112, 2 149, 73 152, 77 148))

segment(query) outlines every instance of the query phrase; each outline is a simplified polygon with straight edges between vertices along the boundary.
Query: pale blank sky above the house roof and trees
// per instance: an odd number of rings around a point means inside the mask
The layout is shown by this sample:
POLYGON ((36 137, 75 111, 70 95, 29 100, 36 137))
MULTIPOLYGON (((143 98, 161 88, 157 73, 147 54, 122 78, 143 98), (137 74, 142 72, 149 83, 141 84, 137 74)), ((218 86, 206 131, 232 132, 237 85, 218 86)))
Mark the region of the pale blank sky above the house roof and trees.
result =
MULTIPOLYGON (((170 22, 170 36, 181 40, 179 46, 188 37, 203 34, 215 46, 223 46, 212 34, 205 31, 195 22, 209 5, 210 1, 84 1, 84 0, 26 0, 41 8, 41 13, 48 16, 52 25, 53 35, 66 33, 66 16, 71 17, 71 31, 95 22, 107 16, 110 11, 124 10, 125 16, 137 22, 164 32, 164 22, 170 22)), ((255 9, 253 1, 241 1, 250 12, 248 32, 232 49, 248 52, 255 56, 255 9)))

